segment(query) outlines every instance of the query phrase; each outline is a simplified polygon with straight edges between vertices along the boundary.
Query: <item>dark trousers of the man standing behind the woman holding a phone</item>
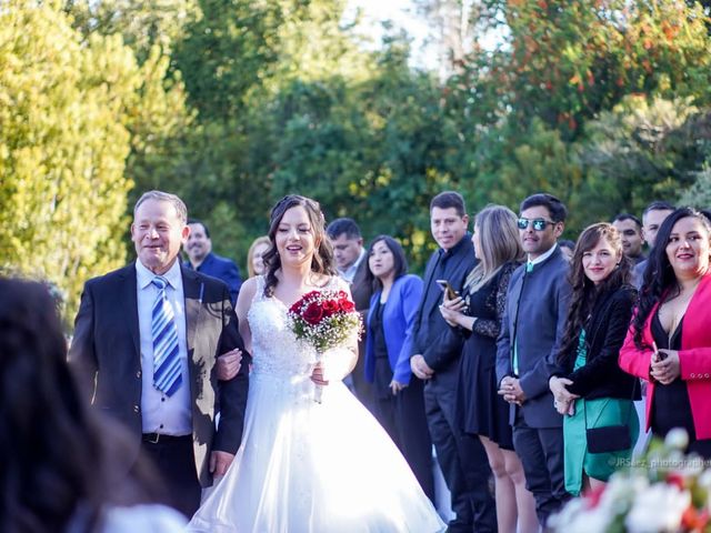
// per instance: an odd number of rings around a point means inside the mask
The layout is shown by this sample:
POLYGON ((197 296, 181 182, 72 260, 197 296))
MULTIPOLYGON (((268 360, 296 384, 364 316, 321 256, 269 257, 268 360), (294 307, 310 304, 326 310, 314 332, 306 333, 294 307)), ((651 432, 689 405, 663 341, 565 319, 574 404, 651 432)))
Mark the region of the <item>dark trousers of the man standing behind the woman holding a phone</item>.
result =
POLYGON ((424 385, 424 406, 437 459, 452 495, 457 517, 449 532, 497 531, 497 507, 490 489, 487 453, 474 435, 462 432, 454 421, 457 402, 453 380, 430 380, 424 385))

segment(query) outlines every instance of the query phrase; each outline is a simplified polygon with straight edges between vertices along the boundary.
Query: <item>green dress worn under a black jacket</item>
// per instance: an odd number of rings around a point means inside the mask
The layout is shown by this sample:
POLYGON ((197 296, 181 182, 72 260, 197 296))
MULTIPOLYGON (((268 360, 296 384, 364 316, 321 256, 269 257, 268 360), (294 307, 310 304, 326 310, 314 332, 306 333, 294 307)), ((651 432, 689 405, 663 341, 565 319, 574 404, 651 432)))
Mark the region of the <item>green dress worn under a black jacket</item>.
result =
MULTIPOLYGON (((584 366, 588 356, 585 330, 580 332, 579 339, 573 370, 584 366)), ((630 464, 632 459, 632 447, 619 452, 588 452, 585 415, 588 418, 588 428, 629 424, 630 442, 632 443, 637 442, 637 436, 640 432, 640 423, 632 399, 598 398, 585 400, 580 398, 575 400, 575 414, 563 418, 565 490, 573 496, 580 495, 583 472, 588 474, 588 477, 608 481, 619 466, 630 464)))

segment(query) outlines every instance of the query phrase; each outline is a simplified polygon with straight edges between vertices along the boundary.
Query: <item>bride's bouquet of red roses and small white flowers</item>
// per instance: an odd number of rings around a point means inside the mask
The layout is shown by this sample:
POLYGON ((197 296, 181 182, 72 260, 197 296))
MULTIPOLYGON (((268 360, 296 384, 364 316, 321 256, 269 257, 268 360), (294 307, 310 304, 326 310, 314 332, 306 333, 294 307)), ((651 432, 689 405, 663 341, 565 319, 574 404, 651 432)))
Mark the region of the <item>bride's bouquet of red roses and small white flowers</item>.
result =
MULTIPOLYGON (((317 362, 327 350, 340 348, 358 338, 361 319, 344 291, 311 291, 289 308, 291 330, 299 340, 316 349, 317 362)), ((316 401, 321 403, 321 388, 316 401)))

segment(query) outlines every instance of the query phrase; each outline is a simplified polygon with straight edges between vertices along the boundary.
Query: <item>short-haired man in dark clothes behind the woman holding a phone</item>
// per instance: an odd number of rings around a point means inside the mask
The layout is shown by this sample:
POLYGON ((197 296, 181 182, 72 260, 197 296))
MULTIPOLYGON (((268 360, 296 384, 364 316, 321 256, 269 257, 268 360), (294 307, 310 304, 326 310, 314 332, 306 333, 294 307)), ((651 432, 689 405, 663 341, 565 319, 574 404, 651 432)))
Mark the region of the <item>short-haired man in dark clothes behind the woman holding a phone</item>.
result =
POLYGON ((435 280, 448 280, 460 291, 475 265, 474 247, 467 232, 469 217, 458 192, 441 192, 430 203, 432 237, 440 249, 432 254, 424 272, 424 291, 414 324, 410 366, 427 380, 424 406, 437 459, 452 496, 457 517, 449 532, 471 533, 497 530, 497 513, 489 479, 491 469, 479 439, 462 432, 455 421, 459 358, 458 335, 447 335, 439 305, 442 290, 435 280))

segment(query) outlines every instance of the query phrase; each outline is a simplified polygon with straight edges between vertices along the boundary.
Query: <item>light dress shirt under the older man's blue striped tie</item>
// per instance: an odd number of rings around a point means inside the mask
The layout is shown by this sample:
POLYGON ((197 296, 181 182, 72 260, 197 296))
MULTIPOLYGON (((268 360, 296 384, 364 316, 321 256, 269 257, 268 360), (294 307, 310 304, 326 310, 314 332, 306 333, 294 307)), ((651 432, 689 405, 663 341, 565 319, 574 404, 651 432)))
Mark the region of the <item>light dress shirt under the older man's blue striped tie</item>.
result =
POLYGON ((166 295, 178 329, 178 356, 182 373, 182 384, 167 396, 153 386, 153 338, 151 335, 152 308, 159 289, 151 283, 156 274, 140 261, 136 261, 138 291, 138 323, 141 335, 141 412, 143 433, 164 435, 189 435, 192 433, 192 409, 190 398, 190 378, 188 373, 188 343, 186 341, 186 296, 182 290, 180 263, 176 261, 163 278, 168 281, 166 295))

